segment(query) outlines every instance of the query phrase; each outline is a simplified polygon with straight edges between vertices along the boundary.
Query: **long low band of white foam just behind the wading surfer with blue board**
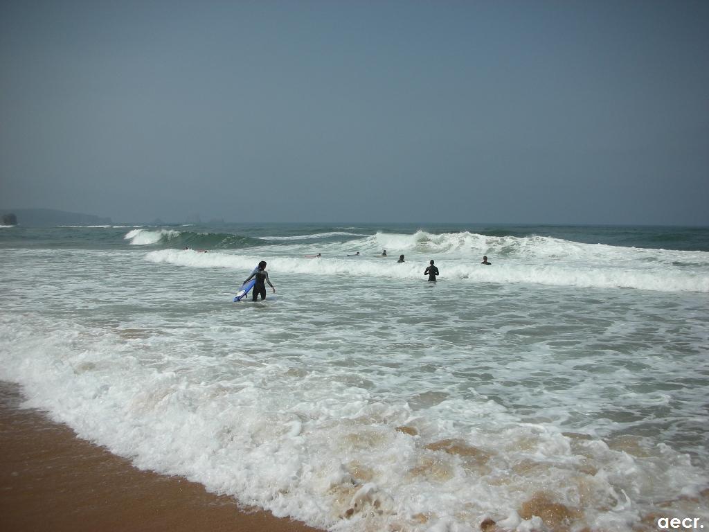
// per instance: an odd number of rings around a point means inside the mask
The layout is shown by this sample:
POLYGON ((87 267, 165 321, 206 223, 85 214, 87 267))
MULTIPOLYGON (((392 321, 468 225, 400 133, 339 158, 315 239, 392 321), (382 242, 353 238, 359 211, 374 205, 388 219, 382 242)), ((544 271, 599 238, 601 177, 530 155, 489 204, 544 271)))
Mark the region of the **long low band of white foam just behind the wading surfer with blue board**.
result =
MULTIPOLYGON (((546 243, 545 243, 546 244, 546 243)), ((342 245, 338 244, 338 247, 342 245)), ((581 245, 579 245, 581 246, 581 245)), ((564 248, 575 246, 564 246, 564 248)), ((390 246, 390 249, 394 249, 390 246)), ((583 248, 581 248, 583 250, 583 248)), ((403 250, 403 248, 398 248, 403 250)), ((396 251, 398 251, 396 250, 396 251)), ((272 253, 284 253, 273 250, 272 253)), ((318 260, 302 257, 269 257, 269 270, 306 275, 344 275, 352 277, 374 277, 383 279, 420 279, 427 265, 421 252, 409 255, 401 264, 393 257, 322 257, 318 260)), ((478 254, 476 254, 477 256, 478 254)), ((552 286, 595 287, 595 288, 633 288, 658 290, 661 292, 709 292, 709 253, 673 252, 671 257, 661 250, 625 250, 603 246, 598 253, 584 250, 584 255, 575 254, 569 260, 538 260, 540 253, 532 249, 521 257, 508 257, 496 260, 491 267, 470 262, 449 254, 436 260, 440 279, 465 282, 494 283, 532 283, 552 286), (602 253, 601 253, 602 252, 602 253), (601 257, 598 257, 601 253, 601 257), (681 253, 681 255, 678 255, 681 253), (643 257, 650 257, 653 264, 647 264, 643 257), (686 257, 686 260, 705 261, 707 266, 696 269, 676 267, 671 259, 686 257)), ((469 255, 468 255, 469 256, 469 255)), ((544 255, 546 256, 546 255, 544 255)), ((250 252, 234 253, 184 253, 182 250, 157 250, 146 256, 152 262, 189 267, 226 267, 243 270, 261 260, 259 255, 250 252)))

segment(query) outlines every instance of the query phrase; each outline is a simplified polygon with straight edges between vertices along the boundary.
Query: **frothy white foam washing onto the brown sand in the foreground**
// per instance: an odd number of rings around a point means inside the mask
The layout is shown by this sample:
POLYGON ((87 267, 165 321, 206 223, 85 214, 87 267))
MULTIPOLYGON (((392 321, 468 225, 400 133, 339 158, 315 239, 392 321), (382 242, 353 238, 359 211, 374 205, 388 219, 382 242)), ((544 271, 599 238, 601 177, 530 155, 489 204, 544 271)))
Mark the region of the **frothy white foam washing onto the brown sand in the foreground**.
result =
MULTIPOLYGON (((544 490, 582 504, 580 523, 624 531, 637 521, 628 500, 664 500, 705 482, 669 448, 647 458, 647 450, 574 440, 549 424, 520 423, 485 397, 441 395, 413 410, 323 360, 306 369, 271 351, 213 367, 180 336, 128 329, 122 337, 120 328, 41 319, 0 322, 11 345, 0 375, 23 383, 29 406, 50 409, 138 467, 324 528, 419 531, 445 522, 463 530, 485 516, 507 518, 544 490)), ((525 526, 520 519, 513 529, 525 526)))

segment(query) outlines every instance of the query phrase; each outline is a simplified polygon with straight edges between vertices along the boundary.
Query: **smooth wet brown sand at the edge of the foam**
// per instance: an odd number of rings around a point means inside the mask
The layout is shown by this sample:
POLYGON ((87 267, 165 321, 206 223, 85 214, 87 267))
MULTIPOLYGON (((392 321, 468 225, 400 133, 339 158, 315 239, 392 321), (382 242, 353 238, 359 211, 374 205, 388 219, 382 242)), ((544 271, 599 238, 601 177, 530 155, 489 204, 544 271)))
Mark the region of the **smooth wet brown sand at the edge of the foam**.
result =
POLYGON ((318 532, 243 509, 201 484, 140 471, 20 402, 18 387, 0 382, 4 532, 318 532))

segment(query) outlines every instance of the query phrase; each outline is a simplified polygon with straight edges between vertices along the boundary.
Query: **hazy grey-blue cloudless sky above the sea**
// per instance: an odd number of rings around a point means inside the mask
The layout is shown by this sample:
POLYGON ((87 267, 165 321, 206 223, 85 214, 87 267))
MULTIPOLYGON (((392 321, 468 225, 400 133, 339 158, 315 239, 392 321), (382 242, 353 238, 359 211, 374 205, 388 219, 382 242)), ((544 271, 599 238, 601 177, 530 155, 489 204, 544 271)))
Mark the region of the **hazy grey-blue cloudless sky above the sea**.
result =
POLYGON ((709 2, 0 0, 0 207, 709 225, 709 2))

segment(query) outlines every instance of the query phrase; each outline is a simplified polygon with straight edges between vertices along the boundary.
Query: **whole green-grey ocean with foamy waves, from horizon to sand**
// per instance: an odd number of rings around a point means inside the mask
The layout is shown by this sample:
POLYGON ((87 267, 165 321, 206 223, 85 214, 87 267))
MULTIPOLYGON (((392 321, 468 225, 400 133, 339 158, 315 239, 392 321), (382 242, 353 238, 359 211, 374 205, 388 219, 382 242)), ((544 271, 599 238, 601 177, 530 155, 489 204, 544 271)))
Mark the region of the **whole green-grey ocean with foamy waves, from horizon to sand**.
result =
POLYGON ((25 406, 277 516, 709 526, 709 228, 2 227, 0 281, 25 406))

